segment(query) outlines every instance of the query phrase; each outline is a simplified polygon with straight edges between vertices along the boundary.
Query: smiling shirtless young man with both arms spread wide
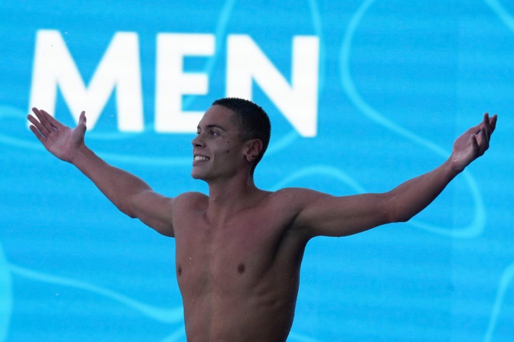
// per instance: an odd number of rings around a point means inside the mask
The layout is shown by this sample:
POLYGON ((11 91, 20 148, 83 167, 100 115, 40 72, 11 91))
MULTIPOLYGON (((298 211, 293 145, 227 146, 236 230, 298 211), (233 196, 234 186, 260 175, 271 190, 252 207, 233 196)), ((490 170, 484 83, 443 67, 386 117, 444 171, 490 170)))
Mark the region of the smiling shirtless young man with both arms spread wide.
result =
POLYGON ((305 245, 344 236, 423 210, 489 146, 497 116, 462 134, 441 166, 386 193, 335 197, 309 189, 263 191, 253 170, 269 142, 269 118, 248 100, 216 100, 192 140, 193 178, 209 195, 163 197, 109 166, 75 129, 33 108, 30 127, 45 148, 74 164, 123 213, 176 238, 176 274, 189 341, 284 341, 291 328, 305 245))

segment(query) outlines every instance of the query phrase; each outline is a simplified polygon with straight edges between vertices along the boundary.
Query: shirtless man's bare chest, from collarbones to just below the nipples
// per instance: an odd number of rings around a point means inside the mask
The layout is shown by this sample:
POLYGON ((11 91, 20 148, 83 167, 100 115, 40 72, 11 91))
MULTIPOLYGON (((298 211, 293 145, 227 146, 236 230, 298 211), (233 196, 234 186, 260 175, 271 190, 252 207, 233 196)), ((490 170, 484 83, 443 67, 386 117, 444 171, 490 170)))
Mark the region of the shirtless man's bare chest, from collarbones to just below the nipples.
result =
POLYGON ((273 266, 285 230, 258 215, 216 225, 191 216, 181 224, 175 234, 178 282, 198 291, 250 287, 273 266))

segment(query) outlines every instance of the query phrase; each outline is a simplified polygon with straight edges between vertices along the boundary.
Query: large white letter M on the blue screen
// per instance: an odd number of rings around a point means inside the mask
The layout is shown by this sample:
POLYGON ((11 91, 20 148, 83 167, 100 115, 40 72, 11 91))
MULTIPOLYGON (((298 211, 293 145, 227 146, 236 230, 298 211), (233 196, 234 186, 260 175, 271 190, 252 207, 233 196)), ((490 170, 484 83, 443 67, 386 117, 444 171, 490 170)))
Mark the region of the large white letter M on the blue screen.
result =
POLYGON ((116 87, 118 128, 143 130, 143 106, 139 45, 136 33, 118 32, 113 37, 89 86, 84 81, 64 40, 56 30, 39 30, 36 35, 30 108, 53 113, 60 87, 75 122, 85 110, 92 129, 116 87))

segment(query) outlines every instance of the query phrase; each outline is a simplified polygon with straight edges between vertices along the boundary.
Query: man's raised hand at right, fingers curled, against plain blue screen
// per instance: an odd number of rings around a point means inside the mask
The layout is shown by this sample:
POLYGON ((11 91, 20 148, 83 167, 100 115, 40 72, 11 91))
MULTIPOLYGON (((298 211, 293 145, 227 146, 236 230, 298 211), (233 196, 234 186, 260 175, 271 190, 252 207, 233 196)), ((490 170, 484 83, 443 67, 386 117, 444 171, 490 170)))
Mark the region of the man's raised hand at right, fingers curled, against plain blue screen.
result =
POLYGON ((497 117, 494 114, 489 118, 489 114, 485 113, 484 120, 480 124, 471 127, 455 140, 450 157, 453 170, 461 172, 489 148, 489 139, 496 127, 497 117))

